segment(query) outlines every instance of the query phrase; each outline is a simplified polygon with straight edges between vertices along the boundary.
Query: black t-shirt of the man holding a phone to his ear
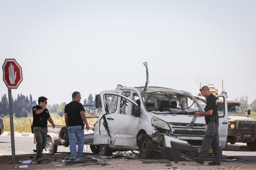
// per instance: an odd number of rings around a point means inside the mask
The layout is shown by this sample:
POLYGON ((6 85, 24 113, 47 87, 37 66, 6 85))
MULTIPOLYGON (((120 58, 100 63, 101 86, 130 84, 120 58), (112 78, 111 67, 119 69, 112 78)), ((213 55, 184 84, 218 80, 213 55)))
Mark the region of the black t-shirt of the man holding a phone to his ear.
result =
POLYGON ((47 127, 47 120, 50 118, 50 114, 47 108, 44 109, 44 111, 40 114, 35 114, 35 111, 37 109, 42 109, 39 105, 36 105, 32 108, 33 113, 33 127, 47 127))

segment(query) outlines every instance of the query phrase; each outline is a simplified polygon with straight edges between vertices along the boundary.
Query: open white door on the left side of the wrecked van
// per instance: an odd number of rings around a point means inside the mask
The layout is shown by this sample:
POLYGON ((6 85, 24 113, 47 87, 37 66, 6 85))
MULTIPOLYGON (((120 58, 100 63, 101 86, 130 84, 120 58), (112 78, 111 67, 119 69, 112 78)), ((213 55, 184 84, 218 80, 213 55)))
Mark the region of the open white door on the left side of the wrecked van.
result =
MULTIPOLYGON (((120 146, 136 146, 136 134, 138 128, 139 118, 135 114, 126 114, 127 110, 130 112, 138 112, 138 105, 128 97, 115 92, 101 92, 102 106, 105 116, 104 122, 101 121, 100 129, 107 125, 108 140, 104 136, 100 143, 111 143, 112 145, 120 146), (129 108, 129 109, 128 109, 129 108)), ((99 117, 100 120, 101 116, 99 117)), ((96 129, 96 128, 95 128, 96 129)), ((104 131, 104 130, 102 130, 104 131)), ((105 131, 106 132, 106 131, 105 131)), ((99 135, 97 138, 100 138, 99 135)), ((96 143, 96 142, 95 142, 96 143)), ((99 143, 99 142, 98 142, 99 143)))

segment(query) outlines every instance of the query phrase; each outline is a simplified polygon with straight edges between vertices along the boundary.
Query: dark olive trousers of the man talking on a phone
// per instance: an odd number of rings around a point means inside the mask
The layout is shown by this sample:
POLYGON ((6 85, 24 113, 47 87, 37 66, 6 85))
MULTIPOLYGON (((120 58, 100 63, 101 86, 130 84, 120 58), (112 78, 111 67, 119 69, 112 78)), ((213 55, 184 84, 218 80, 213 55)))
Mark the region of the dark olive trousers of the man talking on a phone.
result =
POLYGON ((38 158, 42 158, 43 149, 45 148, 46 138, 47 138, 47 129, 33 129, 36 141, 36 157, 35 160, 38 158))

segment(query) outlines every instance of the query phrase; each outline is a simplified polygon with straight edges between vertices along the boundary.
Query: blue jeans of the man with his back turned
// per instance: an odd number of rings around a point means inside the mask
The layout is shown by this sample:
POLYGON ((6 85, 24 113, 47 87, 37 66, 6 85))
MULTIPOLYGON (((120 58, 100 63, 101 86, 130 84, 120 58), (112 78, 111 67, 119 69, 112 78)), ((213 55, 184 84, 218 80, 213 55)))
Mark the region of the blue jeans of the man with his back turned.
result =
POLYGON ((81 126, 68 127, 69 134, 69 150, 72 158, 82 158, 83 145, 84 145, 84 131, 81 126), (76 138, 77 138, 77 151, 76 151, 76 138))

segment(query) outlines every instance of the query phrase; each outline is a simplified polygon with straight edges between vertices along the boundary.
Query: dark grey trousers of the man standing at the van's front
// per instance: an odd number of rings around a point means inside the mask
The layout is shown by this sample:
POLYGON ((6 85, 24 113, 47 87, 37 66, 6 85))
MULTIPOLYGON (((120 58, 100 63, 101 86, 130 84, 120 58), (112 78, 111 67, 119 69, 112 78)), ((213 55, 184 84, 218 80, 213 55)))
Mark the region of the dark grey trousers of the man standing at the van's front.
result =
POLYGON ((208 155, 210 146, 213 151, 214 162, 220 163, 221 162, 221 147, 219 146, 219 122, 215 123, 208 122, 207 129, 202 141, 202 150, 200 152, 200 156, 198 157, 199 160, 204 161, 208 155))

